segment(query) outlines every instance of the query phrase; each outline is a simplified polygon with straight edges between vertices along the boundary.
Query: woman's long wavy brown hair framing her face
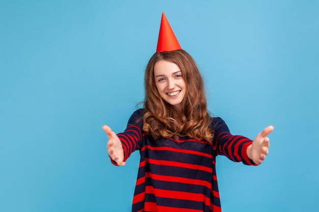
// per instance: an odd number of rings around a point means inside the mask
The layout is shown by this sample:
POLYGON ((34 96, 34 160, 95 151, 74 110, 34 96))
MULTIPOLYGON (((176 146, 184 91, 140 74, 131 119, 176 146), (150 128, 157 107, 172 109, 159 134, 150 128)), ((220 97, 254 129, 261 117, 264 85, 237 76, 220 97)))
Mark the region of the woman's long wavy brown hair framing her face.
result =
POLYGON ((149 60, 144 78, 145 101, 143 131, 154 139, 189 137, 212 142, 214 132, 207 111, 204 83, 193 57, 180 49, 155 53, 149 60), (185 80, 186 94, 181 110, 164 101, 154 79, 154 65, 159 60, 176 64, 185 80))

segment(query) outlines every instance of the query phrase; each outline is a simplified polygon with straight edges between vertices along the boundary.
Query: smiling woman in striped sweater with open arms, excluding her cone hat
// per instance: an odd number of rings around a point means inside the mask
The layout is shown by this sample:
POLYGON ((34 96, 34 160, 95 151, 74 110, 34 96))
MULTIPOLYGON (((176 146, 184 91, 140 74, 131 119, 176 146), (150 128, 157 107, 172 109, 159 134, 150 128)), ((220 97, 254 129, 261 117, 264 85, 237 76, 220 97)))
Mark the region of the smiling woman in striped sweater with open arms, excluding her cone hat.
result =
POLYGON ((216 156, 258 165, 274 129, 265 128, 253 141, 231 135, 221 118, 210 117, 199 70, 179 48, 150 58, 144 107, 131 115, 126 130, 116 135, 102 128, 113 164, 124 166, 132 152, 140 151, 132 211, 190 212, 221 211, 216 156))

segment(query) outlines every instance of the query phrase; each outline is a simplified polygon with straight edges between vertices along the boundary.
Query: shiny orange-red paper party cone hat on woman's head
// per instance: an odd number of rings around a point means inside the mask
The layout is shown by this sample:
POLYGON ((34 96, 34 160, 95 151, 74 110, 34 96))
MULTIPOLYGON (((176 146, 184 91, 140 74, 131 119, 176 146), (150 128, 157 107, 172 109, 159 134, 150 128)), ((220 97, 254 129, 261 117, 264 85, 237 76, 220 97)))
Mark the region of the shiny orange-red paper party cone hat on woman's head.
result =
POLYGON ((181 49, 181 47, 168 20, 166 19, 165 14, 162 13, 162 21, 161 27, 159 28, 156 52, 174 51, 178 49, 181 49))

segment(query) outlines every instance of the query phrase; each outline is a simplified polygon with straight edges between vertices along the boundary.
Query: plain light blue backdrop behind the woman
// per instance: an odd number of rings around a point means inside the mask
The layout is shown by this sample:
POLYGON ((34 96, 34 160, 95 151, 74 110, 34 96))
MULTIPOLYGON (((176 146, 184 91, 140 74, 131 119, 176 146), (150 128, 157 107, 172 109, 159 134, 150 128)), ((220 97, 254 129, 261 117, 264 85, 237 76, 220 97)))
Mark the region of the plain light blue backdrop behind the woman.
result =
POLYGON ((227 211, 319 210, 317 1, 0 2, 0 211, 130 211, 139 153, 111 165, 165 12, 233 134, 268 125, 258 167, 219 156, 227 211))

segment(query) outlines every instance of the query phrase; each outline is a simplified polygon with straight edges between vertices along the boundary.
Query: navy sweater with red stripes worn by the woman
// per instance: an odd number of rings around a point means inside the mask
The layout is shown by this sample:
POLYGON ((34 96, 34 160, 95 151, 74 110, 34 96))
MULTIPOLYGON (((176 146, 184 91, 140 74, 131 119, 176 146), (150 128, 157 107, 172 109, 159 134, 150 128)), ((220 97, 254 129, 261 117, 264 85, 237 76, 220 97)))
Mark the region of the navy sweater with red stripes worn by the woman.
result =
POLYGON ((141 155, 132 211, 221 211, 216 156, 255 165, 246 152, 252 141, 231 135, 219 117, 212 119, 212 143, 187 138, 153 140, 144 135, 143 124, 138 122, 142 113, 142 109, 135 111, 126 130, 118 134, 124 161, 135 150, 141 155))

